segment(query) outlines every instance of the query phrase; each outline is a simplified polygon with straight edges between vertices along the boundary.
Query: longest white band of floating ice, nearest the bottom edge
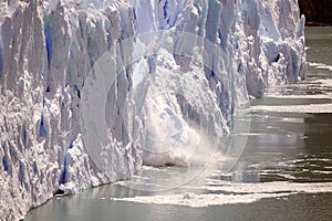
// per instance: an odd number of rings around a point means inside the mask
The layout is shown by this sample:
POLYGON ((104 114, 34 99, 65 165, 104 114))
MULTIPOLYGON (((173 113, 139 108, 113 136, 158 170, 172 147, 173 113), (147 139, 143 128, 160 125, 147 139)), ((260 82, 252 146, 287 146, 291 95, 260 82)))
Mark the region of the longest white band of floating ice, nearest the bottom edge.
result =
POLYGON ((291 194, 298 193, 332 192, 332 182, 311 183, 309 186, 308 183, 293 182, 234 183, 221 180, 211 180, 210 183, 214 186, 200 187, 199 189, 208 190, 211 193, 199 194, 194 192, 186 192, 183 194, 112 198, 112 200, 198 208, 231 203, 250 203, 264 198, 286 198, 291 194))

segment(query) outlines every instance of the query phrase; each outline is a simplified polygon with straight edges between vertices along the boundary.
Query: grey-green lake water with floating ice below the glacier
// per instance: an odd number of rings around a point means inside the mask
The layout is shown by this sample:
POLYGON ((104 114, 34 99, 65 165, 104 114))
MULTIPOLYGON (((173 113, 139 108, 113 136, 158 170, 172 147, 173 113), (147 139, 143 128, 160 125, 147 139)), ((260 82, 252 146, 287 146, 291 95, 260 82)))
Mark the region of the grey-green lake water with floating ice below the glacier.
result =
POLYGON ((251 102, 231 170, 144 167, 128 181, 54 197, 25 220, 331 220, 332 28, 305 31, 305 81, 251 102))

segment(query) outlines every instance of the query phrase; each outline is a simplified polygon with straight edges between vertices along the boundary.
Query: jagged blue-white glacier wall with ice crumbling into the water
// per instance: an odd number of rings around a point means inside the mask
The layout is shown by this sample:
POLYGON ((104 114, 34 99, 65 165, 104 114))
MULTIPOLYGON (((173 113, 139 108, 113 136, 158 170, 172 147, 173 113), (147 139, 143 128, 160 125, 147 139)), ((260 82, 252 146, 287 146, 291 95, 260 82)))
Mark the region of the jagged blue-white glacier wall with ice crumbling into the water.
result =
POLYGON ((1 1, 1 220, 196 164, 250 97, 304 78, 304 22, 298 0, 1 1))

